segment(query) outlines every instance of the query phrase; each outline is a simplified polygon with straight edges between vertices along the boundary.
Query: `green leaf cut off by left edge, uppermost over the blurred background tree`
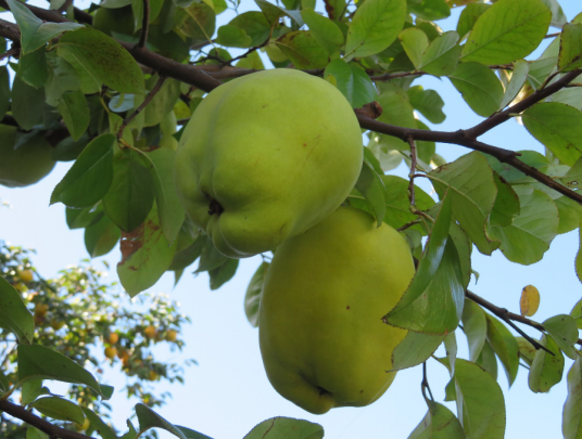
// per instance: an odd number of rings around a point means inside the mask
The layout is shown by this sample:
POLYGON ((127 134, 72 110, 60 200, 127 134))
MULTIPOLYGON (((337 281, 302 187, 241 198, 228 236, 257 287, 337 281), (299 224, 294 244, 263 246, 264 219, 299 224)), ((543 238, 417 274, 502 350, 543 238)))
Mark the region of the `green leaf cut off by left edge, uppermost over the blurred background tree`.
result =
POLYGON ((12 331, 20 343, 31 344, 35 322, 21 294, 0 276, 0 327, 12 331))

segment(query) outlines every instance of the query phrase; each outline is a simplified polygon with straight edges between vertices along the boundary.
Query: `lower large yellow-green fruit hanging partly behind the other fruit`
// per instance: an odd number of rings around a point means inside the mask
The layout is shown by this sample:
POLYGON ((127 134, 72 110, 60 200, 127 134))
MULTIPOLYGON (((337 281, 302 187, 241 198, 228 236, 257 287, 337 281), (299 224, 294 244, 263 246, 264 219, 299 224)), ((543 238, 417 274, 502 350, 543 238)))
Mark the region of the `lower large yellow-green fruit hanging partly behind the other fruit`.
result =
POLYGON ((273 387, 315 414, 362 406, 394 379, 406 331, 382 322, 413 279, 405 240, 340 207, 277 248, 261 298, 261 353, 273 387))

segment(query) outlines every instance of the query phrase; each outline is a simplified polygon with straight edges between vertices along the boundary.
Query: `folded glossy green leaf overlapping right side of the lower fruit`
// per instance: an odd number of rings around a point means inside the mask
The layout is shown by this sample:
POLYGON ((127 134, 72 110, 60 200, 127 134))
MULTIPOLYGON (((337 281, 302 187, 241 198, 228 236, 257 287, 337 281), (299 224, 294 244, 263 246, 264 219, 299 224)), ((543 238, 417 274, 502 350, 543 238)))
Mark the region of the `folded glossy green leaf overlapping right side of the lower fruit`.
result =
POLYGON ((396 307, 384 317, 393 326, 446 335, 458 325, 465 288, 458 253, 448 240, 452 199, 444 194, 416 275, 396 307))

